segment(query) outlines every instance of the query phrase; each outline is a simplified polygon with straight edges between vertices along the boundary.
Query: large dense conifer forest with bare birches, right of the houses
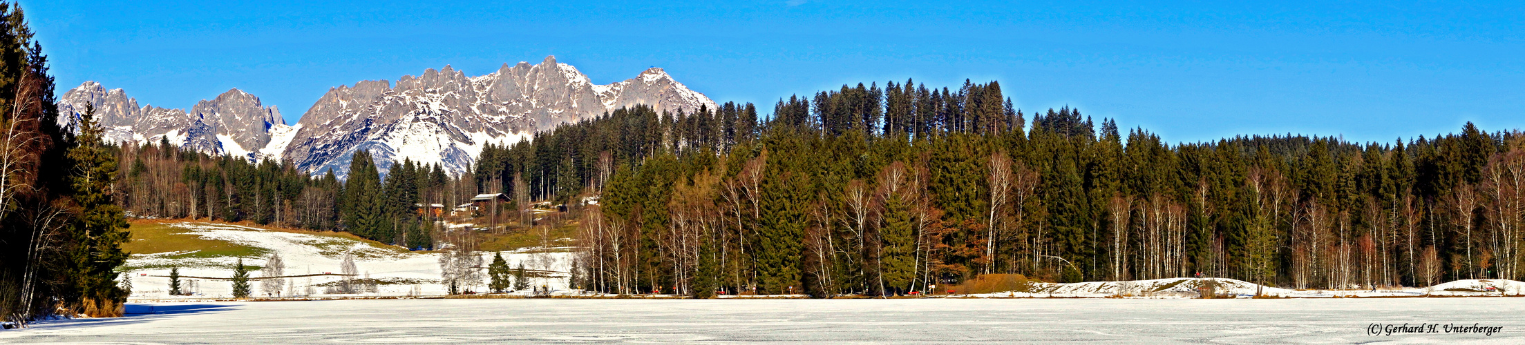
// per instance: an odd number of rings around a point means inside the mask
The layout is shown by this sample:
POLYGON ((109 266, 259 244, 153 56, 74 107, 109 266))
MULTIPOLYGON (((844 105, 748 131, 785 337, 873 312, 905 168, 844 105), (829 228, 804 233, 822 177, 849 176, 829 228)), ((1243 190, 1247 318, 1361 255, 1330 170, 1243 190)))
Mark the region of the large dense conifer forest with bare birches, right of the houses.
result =
MULTIPOLYGON (((912 87, 915 85, 915 87, 912 87)), ((909 293, 984 274, 1298 289, 1519 278, 1519 132, 1170 144, 997 82, 637 106, 483 150, 483 188, 580 204, 592 290, 909 293), (737 111, 741 109, 741 111, 737 111), (746 116, 730 116, 730 114, 746 116)))

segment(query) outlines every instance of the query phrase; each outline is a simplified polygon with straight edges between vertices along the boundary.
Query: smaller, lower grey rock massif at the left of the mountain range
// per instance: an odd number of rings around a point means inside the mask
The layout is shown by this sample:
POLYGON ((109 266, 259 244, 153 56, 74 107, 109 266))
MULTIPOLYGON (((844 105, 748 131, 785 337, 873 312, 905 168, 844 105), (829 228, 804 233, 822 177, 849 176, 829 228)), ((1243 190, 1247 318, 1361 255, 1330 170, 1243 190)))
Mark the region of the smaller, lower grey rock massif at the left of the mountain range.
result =
POLYGON ((105 90, 99 82, 85 82, 59 99, 59 122, 66 126, 78 122, 87 105, 95 105, 95 117, 105 128, 107 141, 166 140, 186 149, 250 160, 261 158, 256 150, 271 143, 271 131, 287 128, 279 109, 264 106, 259 97, 236 88, 212 100, 201 100, 188 112, 139 106, 120 88, 105 90))

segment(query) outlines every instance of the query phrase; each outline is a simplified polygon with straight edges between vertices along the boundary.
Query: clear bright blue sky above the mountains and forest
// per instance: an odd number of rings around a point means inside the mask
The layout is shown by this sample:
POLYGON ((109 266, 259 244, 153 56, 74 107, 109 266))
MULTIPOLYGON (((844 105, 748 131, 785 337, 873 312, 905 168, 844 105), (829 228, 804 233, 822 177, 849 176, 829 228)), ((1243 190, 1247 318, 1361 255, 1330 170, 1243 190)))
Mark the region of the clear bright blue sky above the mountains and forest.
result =
POLYGON ((1438 2, 73 2, 20 0, 59 93, 189 108, 229 88, 296 123, 328 88, 546 55, 596 84, 663 67, 717 102, 842 84, 1000 81, 1168 141, 1392 141, 1525 126, 1525 5, 1438 2))

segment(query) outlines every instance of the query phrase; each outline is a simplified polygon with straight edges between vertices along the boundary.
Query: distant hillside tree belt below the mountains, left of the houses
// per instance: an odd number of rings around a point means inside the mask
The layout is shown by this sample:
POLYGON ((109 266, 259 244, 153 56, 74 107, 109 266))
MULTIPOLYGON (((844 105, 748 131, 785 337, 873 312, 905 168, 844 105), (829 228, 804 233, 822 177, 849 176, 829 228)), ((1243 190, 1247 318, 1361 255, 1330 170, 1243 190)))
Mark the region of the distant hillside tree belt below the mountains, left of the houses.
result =
POLYGON ((381 175, 357 150, 346 179, 311 175, 288 161, 207 155, 159 143, 108 146, 127 166, 114 181, 119 204, 137 217, 253 222, 288 228, 348 231, 381 243, 432 249, 433 204, 468 201, 473 181, 450 176, 439 164, 404 160, 381 175), (424 210, 424 211, 421 211, 424 210))

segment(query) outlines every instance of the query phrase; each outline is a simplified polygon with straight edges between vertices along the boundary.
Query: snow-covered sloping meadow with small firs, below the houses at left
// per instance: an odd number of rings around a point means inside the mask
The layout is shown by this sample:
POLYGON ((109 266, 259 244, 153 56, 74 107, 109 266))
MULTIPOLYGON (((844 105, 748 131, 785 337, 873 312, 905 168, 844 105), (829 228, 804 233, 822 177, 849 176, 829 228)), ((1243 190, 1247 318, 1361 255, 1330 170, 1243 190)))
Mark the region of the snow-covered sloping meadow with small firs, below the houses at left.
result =
MULTIPOLYGON (((340 280, 340 277, 308 277, 287 278, 281 296, 313 296, 313 298, 343 298, 343 296, 430 296, 445 295, 447 287, 439 284, 441 267, 439 252, 409 252, 403 248, 375 246, 360 240, 340 236, 300 234, 268 231, 261 228, 180 222, 169 226, 186 229, 206 240, 224 240, 242 246, 258 248, 264 252, 278 252, 285 263, 285 274, 340 274, 340 263, 345 254, 354 255, 357 274, 363 278, 392 283, 378 284, 375 292, 363 293, 326 293, 325 283, 340 280), (307 287, 313 286, 311 292, 307 287)), ((232 296, 232 281, 181 278, 185 290, 194 292, 191 296, 169 296, 169 267, 180 266, 181 277, 232 277, 235 257, 186 257, 194 252, 162 252, 148 255, 131 255, 124 275, 133 280, 133 296, 130 301, 172 301, 172 299, 218 299, 232 296)), ((566 272, 570 264, 570 252, 566 248, 551 249, 520 249, 502 252, 509 267, 525 263, 526 269, 566 272)), ((244 264, 264 266, 268 254, 262 257, 246 257, 244 264)), ((482 266, 493 263, 493 252, 482 252, 482 266)), ((485 272, 485 269, 483 269, 485 272)), ((259 277, 259 272, 250 272, 259 277)), ((255 292, 259 283, 252 281, 255 292)), ((473 290, 486 290, 486 281, 473 290)), ((537 284, 549 286, 554 290, 564 290, 564 278, 541 280, 537 284)), ((259 293, 264 296, 264 293, 259 293)))

